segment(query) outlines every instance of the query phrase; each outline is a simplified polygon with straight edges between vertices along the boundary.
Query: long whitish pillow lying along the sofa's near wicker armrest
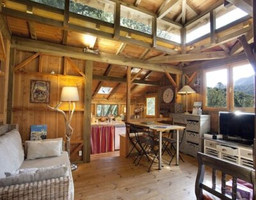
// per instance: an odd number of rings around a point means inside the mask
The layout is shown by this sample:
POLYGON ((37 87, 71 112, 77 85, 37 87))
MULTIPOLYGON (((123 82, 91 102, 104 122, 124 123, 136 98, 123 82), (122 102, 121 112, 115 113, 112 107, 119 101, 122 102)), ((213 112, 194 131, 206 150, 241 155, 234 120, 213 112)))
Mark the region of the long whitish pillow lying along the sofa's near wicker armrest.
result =
POLYGON ((42 180, 49 180, 51 178, 60 178, 63 176, 68 176, 68 168, 65 165, 41 168, 36 171, 17 173, 17 175, 1 178, 0 187, 22 183, 33 183, 42 180))

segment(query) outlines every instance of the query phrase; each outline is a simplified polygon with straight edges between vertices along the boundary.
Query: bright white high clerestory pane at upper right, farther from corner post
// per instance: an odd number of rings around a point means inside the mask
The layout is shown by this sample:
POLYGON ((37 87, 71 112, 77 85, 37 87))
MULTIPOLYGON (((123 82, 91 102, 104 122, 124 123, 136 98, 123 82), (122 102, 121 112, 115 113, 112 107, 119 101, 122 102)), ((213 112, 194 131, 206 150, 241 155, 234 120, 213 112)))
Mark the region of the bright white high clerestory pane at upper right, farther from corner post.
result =
POLYGON ((234 22, 246 15, 248 15, 248 13, 241 10, 240 8, 229 11, 228 13, 225 13, 224 15, 216 18, 216 29, 219 29, 224 25, 230 24, 231 22, 234 22))

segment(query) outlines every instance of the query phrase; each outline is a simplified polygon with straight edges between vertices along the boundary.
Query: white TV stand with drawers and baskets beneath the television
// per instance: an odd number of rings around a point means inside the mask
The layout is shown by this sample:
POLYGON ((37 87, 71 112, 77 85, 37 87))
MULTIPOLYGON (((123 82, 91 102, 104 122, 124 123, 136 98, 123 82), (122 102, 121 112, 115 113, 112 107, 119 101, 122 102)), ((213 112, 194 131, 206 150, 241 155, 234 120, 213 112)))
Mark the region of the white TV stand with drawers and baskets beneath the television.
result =
POLYGON ((253 168, 252 145, 225 139, 204 138, 204 154, 212 155, 246 168, 253 168))

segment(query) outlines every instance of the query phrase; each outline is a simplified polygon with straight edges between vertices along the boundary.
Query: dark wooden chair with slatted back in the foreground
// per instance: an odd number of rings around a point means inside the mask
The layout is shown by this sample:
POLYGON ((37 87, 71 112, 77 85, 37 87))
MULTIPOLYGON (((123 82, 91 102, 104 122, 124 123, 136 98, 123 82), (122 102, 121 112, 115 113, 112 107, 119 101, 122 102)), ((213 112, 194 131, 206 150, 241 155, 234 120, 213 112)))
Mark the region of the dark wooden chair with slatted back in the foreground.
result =
POLYGON ((195 193, 196 199, 202 200, 203 190, 220 199, 237 198, 237 178, 253 184, 253 199, 255 199, 255 170, 239 166, 232 162, 223 161, 216 157, 197 153, 198 173, 196 176, 195 193), (212 168, 212 187, 204 184, 205 166, 212 168), (221 190, 216 189, 216 171, 221 171, 221 190), (232 176, 232 196, 226 194, 226 175, 232 176))

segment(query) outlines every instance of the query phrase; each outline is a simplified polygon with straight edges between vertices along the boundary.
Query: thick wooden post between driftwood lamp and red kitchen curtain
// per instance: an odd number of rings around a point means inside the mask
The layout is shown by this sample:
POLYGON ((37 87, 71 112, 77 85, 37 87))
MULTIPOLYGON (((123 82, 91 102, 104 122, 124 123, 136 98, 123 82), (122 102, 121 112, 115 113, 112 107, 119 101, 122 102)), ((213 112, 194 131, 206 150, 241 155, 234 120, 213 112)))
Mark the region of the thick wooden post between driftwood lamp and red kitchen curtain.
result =
POLYGON ((84 119, 83 119, 83 162, 91 159, 91 112, 92 112, 92 69, 93 61, 86 61, 84 77, 84 119))

